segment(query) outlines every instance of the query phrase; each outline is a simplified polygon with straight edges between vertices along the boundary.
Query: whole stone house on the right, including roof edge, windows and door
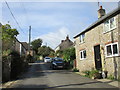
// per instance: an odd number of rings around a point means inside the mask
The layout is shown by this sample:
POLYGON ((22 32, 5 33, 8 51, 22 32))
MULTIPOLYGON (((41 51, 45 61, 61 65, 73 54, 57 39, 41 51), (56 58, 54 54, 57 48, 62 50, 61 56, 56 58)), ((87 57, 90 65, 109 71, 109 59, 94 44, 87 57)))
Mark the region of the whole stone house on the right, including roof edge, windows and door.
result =
POLYGON ((101 16, 74 37, 80 72, 98 69, 118 78, 120 62, 120 7, 101 16))

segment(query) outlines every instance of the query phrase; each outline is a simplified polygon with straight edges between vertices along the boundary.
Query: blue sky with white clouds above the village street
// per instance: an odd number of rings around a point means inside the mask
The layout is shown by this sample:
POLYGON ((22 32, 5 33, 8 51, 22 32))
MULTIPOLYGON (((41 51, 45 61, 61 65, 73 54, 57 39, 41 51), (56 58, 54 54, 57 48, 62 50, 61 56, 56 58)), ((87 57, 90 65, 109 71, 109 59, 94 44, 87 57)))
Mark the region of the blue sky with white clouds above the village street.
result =
MULTIPOLYGON (((98 20, 97 2, 8 2, 19 26, 5 2, 0 3, 2 24, 10 24, 19 31, 21 42, 28 42, 29 26, 31 41, 41 38, 43 45, 55 49, 67 35, 73 37, 98 20)), ((100 2, 106 13, 118 7, 117 2, 100 2)))

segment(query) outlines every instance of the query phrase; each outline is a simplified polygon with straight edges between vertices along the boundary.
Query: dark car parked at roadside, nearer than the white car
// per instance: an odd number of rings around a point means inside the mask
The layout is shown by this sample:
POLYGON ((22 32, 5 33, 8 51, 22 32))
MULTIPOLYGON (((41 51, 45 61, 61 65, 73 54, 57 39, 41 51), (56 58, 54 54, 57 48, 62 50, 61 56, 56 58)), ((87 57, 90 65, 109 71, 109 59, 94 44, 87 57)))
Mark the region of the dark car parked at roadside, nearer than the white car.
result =
POLYGON ((64 60, 62 58, 53 58, 51 62, 52 69, 63 69, 64 68, 64 60))

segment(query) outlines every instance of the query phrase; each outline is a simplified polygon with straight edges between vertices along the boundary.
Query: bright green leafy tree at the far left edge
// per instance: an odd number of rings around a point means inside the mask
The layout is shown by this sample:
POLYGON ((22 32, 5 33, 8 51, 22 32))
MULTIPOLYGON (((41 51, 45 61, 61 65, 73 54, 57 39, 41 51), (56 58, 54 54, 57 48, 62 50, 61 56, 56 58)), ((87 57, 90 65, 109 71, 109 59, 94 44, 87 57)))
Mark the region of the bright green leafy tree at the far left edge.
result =
POLYGON ((16 29, 12 29, 9 24, 2 25, 2 49, 10 49, 13 46, 14 40, 18 34, 18 31, 16 29))

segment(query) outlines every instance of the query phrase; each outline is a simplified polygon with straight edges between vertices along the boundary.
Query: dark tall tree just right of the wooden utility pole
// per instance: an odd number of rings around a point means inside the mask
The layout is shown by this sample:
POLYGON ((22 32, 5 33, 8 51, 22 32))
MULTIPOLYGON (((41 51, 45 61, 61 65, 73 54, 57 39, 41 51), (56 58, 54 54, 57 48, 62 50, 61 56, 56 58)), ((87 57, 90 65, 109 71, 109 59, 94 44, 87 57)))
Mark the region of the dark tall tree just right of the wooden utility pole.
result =
POLYGON ((42 39, 35 39, 31 42, 33 50, 35 50, 36 53, 38 53, 38 48, 42 45, 42 39))

